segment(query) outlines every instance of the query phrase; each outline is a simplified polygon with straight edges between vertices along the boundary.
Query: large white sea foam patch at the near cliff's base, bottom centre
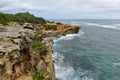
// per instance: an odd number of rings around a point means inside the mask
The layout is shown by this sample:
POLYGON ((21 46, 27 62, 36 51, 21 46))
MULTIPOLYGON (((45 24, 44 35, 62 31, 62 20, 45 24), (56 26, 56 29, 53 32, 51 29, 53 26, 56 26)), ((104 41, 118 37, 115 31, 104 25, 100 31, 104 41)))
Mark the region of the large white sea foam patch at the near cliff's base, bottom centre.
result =
POLYGON ((64 56, 59 52, 53 54, 53 60, 58 80, 94 80, 91 77, 84 76, 89 74, 90 71, 81 70, 80 75, 78 75, 74 68, 64 61, 64 56), (84 77, 80 78, 80 76, 84 77))

